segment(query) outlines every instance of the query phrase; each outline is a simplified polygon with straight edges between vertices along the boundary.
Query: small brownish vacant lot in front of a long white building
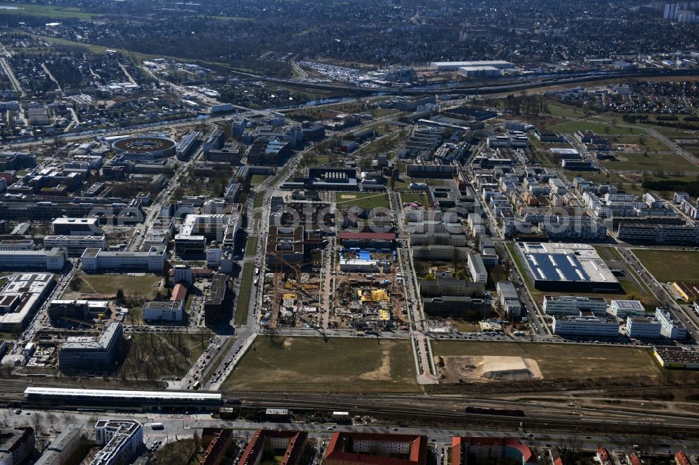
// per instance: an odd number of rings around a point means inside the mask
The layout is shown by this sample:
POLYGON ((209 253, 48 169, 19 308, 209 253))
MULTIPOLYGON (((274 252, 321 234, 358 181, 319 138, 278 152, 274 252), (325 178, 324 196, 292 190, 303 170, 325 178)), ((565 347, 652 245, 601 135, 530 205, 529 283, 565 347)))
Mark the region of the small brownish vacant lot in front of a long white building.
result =
MULTIPOLYGON (((124 291, 124 295, 143 295, 146 299, 153 297, 158 290, 158 283, 162 279, 153 273, 136 273, 136 276, 129 274, 78 274, 80 277, 80 290, 78 294, 98 294, 113 296, 117 289, 124 291)), ((66 290, 66 295, 74 294, 70 288, 66 290)))

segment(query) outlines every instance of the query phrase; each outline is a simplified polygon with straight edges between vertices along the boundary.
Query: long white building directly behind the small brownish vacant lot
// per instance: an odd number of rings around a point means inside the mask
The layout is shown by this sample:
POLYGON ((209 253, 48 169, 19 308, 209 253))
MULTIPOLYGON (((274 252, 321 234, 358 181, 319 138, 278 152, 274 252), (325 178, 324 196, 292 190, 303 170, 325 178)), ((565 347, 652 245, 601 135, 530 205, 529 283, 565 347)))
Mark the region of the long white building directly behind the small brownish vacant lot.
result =
POLYGON ((166 248, 152 246, 147 252, 110 252, 102 249, 85 249, 80 260, 82 270, 96 272, 97 270, 148 270, 159 273, 165 265, 166 248))

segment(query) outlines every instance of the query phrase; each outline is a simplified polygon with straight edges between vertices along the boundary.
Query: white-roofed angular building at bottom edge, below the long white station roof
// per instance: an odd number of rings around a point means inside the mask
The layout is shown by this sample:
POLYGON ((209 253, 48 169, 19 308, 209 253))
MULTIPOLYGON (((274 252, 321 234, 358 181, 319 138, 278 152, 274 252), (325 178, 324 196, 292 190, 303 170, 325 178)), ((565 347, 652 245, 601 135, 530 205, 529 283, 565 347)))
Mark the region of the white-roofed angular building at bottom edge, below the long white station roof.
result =
POLYGON ((143 449, 143 425, 136 420, 99 420, 94 433, 103 447, 89 465, 131 464, 143 449))

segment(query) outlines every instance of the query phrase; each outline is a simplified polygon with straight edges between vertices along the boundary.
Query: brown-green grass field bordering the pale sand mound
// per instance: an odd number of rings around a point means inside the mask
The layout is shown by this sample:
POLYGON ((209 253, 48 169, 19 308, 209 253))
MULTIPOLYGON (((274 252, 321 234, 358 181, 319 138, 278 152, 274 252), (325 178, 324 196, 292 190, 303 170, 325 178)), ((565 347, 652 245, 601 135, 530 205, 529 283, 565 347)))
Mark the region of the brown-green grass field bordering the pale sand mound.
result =
POLYGON ((522 357, 537 362, 545 381, 554 379, 656 376, 647 349, 489 341, 433 341, 434 355, 522 357))

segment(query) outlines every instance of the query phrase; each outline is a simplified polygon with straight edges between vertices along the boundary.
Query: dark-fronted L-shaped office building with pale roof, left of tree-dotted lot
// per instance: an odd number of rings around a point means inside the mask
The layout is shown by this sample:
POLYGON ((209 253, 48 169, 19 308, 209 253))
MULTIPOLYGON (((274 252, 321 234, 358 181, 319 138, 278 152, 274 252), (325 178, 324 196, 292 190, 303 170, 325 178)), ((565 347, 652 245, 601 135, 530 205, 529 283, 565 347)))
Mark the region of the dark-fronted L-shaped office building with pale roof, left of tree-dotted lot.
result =
POLYGON ((112 371, 122 341, 121 323, 109 323, 99 337, 68 337, 58 350, 62 371, 112 371))

